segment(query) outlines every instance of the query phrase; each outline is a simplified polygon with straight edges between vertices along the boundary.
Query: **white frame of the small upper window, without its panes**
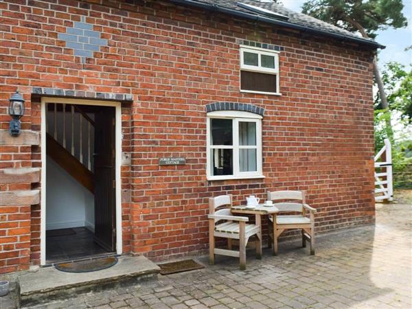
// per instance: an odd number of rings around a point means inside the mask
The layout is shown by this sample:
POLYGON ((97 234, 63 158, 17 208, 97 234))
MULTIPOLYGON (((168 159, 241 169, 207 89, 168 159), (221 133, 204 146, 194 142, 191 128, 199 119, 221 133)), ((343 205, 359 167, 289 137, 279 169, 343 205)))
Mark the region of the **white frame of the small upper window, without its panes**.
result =
POLYGON ((269 95, 282 95, 279 92, 279 52, 274 50, 268 50, 260 47, 250 47, 247 45, 240 45, 240 71, 249 71, 249 72, 257 72, 257 73, 266 73, 266 74, 273 74, 276 76, 276 89, 277 92, 267 92, 267 91, 255 91, 255 90, 247 90, 242 89, 242 83, 240 83, 240 92, 244 93, 262 93, 262 94, 269 94, 269 95), (244 56, 243 53, 248 52, 252 54, 258 54, 258 66, 255 65, 245 65, 244 64, 244 56), (275 68, 271 69, 268 67, 261 66, 261 55, 266 56, 273 56, 275 59, 275 68))

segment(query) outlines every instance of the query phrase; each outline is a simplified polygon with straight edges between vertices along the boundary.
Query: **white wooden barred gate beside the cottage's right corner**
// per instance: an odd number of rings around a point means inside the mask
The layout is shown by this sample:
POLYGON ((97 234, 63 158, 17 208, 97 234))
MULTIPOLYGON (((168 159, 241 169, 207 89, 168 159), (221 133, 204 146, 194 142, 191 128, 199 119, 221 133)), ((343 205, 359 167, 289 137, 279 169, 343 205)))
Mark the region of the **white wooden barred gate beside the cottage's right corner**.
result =
POLYGON ((385 146, 375 158, 375 201, 393 201, 391 142, 385 139, 385 146))

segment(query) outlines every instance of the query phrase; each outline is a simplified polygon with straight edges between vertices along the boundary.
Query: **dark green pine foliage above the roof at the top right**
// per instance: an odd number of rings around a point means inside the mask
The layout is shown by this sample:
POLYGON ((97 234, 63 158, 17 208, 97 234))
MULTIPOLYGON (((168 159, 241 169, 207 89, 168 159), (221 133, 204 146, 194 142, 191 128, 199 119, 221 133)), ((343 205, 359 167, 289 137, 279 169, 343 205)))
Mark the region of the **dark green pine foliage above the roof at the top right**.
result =
POLYGON ((407 25, 402 0, 308 0, 302 12, 350 32, 363 28, 374 38, 377 30, 407 25))

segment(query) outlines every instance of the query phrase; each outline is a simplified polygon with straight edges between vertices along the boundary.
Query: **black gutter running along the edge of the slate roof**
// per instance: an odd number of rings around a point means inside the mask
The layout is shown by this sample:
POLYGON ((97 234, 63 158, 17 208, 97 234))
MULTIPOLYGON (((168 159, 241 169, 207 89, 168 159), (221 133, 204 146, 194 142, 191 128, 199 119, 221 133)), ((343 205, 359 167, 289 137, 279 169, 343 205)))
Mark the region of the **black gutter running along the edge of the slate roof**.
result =
POLYGON ((372 41, 372 40, 368 40, 366 38, 356 38, 355 36, 346 36, 344 34, 338 34, 335 32, 328 32, 328 31, 323 31, 323 30, 319 30, 316 29, 314 27, 308 27, 306 25, 299 25, 297 23, 290 23, 289 21, 280 21, 277 19, 270 19, 268 17, 265 16, 260 16, 260 15, 255 15, 255 14, 249 14, 247 12, 241 12, 238 10, 232 10, 230 8, 225 8, 222 7, 221 5, 218 4, 210 4, 210 3, 205 3, 205 2, 199 2, 196 0, 170 0, 170 2, 178 4, 178 5, 190 5, 196 8, 203 8, 205 10, 211 10, 211 11, 216 11, 216 12, 222 12, 225 14, 230 14, 233 16, 239 16, 241 18, 244 19, 249 19, 252 21, 262 21, 264 23, 270 23, 272 25, 280 25, 283 27, 289 27, 289 28, 293 28, 296 30, 301 30, 303 32, 308 32, 311 34, 318 34, 321 36, 329 36, 332 38, 336 38, 336 39, 340 39, 342 41, 352 41, 352 42, 356 42, 359 44, 363 44, 363 45, 367 45, 369 47, 374 47, 374 48, 380 48, 380 49, 385 49, 386 46, 385 45, 381 45, 380 43, 376 42, 376 41, 372 41))

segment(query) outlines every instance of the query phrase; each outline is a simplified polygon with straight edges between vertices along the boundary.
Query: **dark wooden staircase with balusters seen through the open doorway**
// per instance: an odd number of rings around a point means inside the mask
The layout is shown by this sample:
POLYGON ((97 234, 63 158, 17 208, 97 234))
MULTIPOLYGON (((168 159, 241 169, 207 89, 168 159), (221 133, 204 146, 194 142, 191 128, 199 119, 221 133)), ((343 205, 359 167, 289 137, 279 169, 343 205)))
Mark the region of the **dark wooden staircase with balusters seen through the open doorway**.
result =
POLYGON ((73 104, 48 104, 46 152, 73 179, 94 194, 94 122, 73 104), (83 144, 87 144, 84 149, 83 144))

